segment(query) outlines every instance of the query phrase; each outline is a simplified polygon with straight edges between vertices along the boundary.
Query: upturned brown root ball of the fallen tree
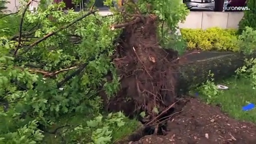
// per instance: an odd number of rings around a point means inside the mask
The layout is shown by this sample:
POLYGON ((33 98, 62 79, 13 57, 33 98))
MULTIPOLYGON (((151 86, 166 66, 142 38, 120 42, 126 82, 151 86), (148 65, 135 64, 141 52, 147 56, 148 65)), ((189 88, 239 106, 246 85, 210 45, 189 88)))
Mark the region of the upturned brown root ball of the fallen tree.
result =
POLYGON ((156 19, 145 16, 124 28, 113 60, 121 90, 108 102, 109 111, 156 115, 175 102, 178 53, 159 46, 156 19))

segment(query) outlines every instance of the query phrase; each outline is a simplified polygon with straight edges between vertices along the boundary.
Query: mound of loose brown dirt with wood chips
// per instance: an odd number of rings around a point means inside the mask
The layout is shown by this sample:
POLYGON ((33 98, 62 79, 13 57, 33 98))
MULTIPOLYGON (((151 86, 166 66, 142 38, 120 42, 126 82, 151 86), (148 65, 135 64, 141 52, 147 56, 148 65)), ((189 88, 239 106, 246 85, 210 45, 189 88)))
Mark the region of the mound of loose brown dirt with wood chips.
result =
POLYGON ((192 98, 168 121, 166 135, 147 135, 129 144, 256 144, 256 126, 192 98))

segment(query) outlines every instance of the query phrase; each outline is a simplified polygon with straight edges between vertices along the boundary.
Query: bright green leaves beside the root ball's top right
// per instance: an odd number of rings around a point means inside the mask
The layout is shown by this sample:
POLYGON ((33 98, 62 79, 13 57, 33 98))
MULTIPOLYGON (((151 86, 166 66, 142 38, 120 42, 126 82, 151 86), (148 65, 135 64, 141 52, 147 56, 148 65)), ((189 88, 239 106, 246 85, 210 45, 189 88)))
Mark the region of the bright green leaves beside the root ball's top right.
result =
MULTIPOLYGON (((142 1, 142 0, 141 0, 142 1)), ((182 54, 186 49, 184 39, 175 35, 178 22, 185 21, 189 10, 180 0, 144 0, 150 3, 153 13, 159 16, 158 35, 160 45, 164 48, 172 48, 182 54)), ((145 3, 145 2, 144 2, 145 3)), ((141 4, 145 6, 146 4, 141 4)), ((147 5, 146 5, 147 6, 147 5)), ((142 9, 145 9, 142 8, 142 9)), ((149 10, 149 9, 147 9, 149 10)))

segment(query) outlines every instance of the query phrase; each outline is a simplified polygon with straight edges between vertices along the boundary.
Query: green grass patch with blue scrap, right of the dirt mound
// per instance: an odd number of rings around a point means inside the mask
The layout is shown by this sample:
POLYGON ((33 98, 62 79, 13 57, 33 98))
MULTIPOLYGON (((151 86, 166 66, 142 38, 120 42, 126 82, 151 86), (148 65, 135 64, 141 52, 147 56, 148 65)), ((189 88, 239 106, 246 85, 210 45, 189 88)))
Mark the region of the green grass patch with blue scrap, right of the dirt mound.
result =
MULTIPOLYGON (((246 78, 230 78, 225 80, 222 85, 229 87, 229 89, 222 90, 221 93, 211 97, 210 103, 220 104, 222 111, 235 119, 256 123, 256 109, 242 110, 242 107, 248 103, 256 104, 256 89, 252 88, 251 81, 246 78)), ((207 96, 201 98, 209 101, 207 96)))

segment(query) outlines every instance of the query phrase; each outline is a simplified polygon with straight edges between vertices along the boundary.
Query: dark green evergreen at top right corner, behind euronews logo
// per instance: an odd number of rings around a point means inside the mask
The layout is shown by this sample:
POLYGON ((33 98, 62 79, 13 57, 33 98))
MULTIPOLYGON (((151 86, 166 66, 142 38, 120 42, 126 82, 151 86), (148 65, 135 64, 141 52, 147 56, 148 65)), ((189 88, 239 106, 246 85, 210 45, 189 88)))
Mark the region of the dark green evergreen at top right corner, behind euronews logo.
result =
POLYGON ((244 11, 244 16, 239 22, 239 34, 241 34, 246 29, 246 26, 256 30, 256 1, 247 0, 247 6, 250 10, 244 11))

